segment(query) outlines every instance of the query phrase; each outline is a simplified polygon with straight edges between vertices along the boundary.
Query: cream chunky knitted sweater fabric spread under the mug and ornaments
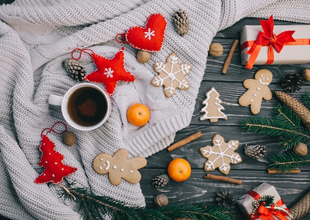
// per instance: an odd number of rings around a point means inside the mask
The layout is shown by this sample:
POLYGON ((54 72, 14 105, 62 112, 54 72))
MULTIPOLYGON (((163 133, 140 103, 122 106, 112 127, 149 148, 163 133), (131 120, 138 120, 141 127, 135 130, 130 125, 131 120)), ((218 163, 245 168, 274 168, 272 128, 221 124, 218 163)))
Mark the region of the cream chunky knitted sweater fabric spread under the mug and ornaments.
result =
MULTIPOLYGON (((50 106, 50 94, 63 96, 76 82, 66 73, 63 60, 75 48, 89 48, 112 58, 124 47, 124 66, 136 79, 118 82, 111 97, 112 112, 100 128, 76 134, 73 147, 49 134, 63 163, 77 167, 64 178, 76 180, 97 195, 107 195, 129 206, 145 206, 140 184, 122 180, 110 184, 107 175, 92 167, 96 155, 113 155, 120 148, 130 157, 148 157, 169 146, 175 133, 191 121, 207 62, 207 51, 215 34, 246 16, 310 23, 309 0, 15 0, 0 6, 0 214, 23 220, 80 220, 78 206, 59 198, 59 186, 35 184, 42 173, 38 162, 41 131, 64 121, 60 107, 50 106), (300 7, 300 5, 303 5, 300 7), (173 15, 179 8, 191 18, 187 35, 178 35, 173 15), (131 27, 144 27, 147 18, 162 14, 167 26, 159 52, 144 64, 136 60, 137 49, 120 44, 115 36, 131 27), (174 52, 180 62, 192 66, 186 77, 189 90, 177 90, 166 98, 162 88, 151 85, 153 64, 174 52), (147 125, 128 123, 126 110, 134 103, 151 110, 147 125)), ((86 73, 96 70, 90 56, 79 60, 86 73)), ((103 86, 99 84, 100 86, 103 86)))

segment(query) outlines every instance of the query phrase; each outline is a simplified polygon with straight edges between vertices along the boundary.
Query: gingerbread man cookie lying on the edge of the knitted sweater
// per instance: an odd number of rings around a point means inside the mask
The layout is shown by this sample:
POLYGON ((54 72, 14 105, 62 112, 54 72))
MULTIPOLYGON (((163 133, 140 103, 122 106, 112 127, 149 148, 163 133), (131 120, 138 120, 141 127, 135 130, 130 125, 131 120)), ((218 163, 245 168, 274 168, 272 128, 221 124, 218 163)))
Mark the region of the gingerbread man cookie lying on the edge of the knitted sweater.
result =
POLYGON ((93 167, 99 174, 107 174, 113 185, 119 185, 122 178, 136 184, 141 180, 138 169, 147 165, 147 160, 143 157, 128 159, 128 151, 120 149, 113 156, 103 153, 95 157, 93 167))

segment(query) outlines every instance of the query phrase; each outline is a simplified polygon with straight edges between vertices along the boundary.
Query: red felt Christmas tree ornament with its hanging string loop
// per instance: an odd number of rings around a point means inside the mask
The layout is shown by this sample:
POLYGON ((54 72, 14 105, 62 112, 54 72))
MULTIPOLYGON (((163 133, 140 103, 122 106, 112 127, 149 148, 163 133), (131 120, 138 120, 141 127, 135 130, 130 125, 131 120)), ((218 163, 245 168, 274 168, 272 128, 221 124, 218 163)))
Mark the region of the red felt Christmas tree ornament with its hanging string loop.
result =
POLYGON ((35 179, 35 183, 52 182, 53 184, 57 184, 59 182, 62 182, 63 177, 66 177, 77 170, 76 167, 72 167, 62 163, 62 160, 64 159, 63 155, 54 150, 55 144, 47 136, 47 134, 51 131, 56 134, 62 134, 64 132, 63 131, 59 133, 54 130, 54 127, 58 123, 65 126, 64 131, 67 130, 66 124, 58 121, 52 126, 52 128, 46 128, 41 133, 42 140, 40 144, 40 151, 42 152, 42 156, 39 161, 39 165, 43 166, 44 170, 42 174, 35 179), (47 131, 46 134, 44 134, 45 131, 47 131))

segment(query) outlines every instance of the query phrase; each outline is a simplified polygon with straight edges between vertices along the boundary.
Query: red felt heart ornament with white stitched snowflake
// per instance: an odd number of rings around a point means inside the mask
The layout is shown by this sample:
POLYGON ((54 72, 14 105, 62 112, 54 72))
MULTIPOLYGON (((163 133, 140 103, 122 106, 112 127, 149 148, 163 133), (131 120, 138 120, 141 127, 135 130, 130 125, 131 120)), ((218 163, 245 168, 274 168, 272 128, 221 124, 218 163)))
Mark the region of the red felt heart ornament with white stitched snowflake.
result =
POLYGON ((158 52, 163 43, 166 25, 166 19, 161 14, 151 14, 145 28, 132 27, 126 32, 126 41, 138 50, 158 52))

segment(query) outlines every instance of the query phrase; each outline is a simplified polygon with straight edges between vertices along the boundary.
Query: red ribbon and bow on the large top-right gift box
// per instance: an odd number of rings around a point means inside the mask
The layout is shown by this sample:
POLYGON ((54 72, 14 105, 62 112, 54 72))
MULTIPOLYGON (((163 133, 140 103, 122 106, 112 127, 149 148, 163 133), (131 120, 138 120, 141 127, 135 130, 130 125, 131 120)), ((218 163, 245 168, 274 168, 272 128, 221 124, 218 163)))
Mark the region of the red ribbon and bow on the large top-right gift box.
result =
POLYGON ((269 47, 267 54, 267 62, 264 65, 271 64, 274 59, 273 48, 280 53, 284 46, 291 45, 310 45, 310 39, 294 39, 292 35, 295 31, 284 31, 278 35, 273 33, 273 17, 268 20, 259 19, 260 25, 264 32, 259 31, 256 41, 246 41, 241 45, 241 51, 251 47, 246 54, 250 54, 250 58, 246 64, 246 68, 252 69, 256 58, 258 57, 261 47, 269 47))

